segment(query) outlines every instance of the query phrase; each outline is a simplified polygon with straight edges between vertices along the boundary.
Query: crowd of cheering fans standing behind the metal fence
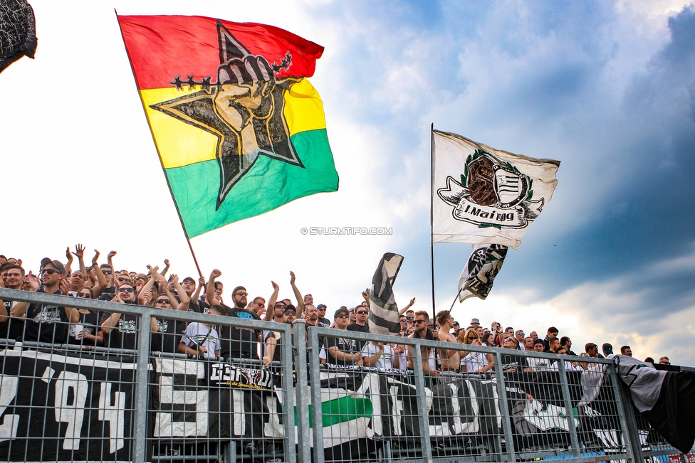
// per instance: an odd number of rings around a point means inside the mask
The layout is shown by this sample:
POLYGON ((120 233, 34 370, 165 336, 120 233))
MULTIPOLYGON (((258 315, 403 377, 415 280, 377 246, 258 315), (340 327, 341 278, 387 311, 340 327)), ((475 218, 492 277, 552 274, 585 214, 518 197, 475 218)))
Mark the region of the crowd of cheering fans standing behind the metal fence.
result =
MULTIPOLYGON (((328 307, 315 305, 311 294, 302 295, 296 285, 296 277, 290 272, 290 285, 296 304, 291 299, 279 299, 280 287, 271 282, 273 293, 267 300, 257 296, 249 298, 244 287, 235 287, 231 302, 223 298, 224 284, 219 281, 221 272, 213 270, 206 281, 185 277, 179 282, 177 275, 169 275, 169 261, 164 267, 147 266, 147 272, 115 270, 113 263, 117 255, 111 251, 107 263, 98 263, 100 253, 95 251, 91 265, 84 261, 85 249, 77 245, 74 252, 68 248, 67 262, 46 257, 41 261, 38 275, 25 272, 23 262, 13 257, 0 255, 0 287, 23 291, 61 294, 70 297, 100 299, 119 304, 140 304, 157 309, 172 309, 220 316, 236 316, 246 319, 274 321, 291 324, 303 318, 308 326, 321 326, 335 330, 368 333, 369 292, 362 292, 362 299, 355 307, 335 309, 332 319, 327 318, 328 307), (74 256, 74 257, 73 257, 74 256), (75 262, 75 257, 77 262, 75 262), (76 265, 75 265, 76 264, 76 265), (73 269, 73 265, 75 268, 73 269)), ((454 321, 449 311, 441 311, 430 320, 426 311, 415 312, 415 299, 399 310, 399 336, 443 341, 451 348, 429 349, 422 347, 421 357, 424 373, 439 376, 441 372, 485 373, 492 370, 495 356, 491 353, 471 351, 466 346, 488 346, 501 348, 502 371, 553 371, 558 362, 550 358, 531 358, 514 355, 510 351, 550 352, 575 357, 565 361, 566 370, 584 371, 592 368, 590 358, 612 358, 612 346, 588 343, 584 351, 573 351, 572 340, 559 336, 554 326, 547 329, 540 339, 536 331, 528 335, 521 329, 493 321, 490 329, 481 326, 479 319, 471 319, 465 328, 454 321)), ((66 304, 67 306, 68 304, 66 304)), ((4 301, 0 303, 0 339, 9 342, 22 340, 50 344, 75 344, 83 349, 108 347, 110 349, 134 349, 137 346, 139 317, 119 312, 93 312, 87 309, 58 307, 50 304, 28 304, 4 301)), ((150 323, 152 351, 184 353, 201 358, 245 358, 257 360, 264 365, 279 361, 288 336, 280 331, 243 329, 234 326, 204 322, 155 319, 150 323)), ((346 338, 336 333, 323 338, 320 360, 328 365, 369 366, 382 370, 405 370, 413 368, 414 352, 404 344, 383 344, 346 338)), ((629 346, 622 346, 620 354, 632 356, 629 346)), ((652 358, 646 362, 654 363, 652 358)), ((669 358, 659 358, 659 363, 670 365, 669 358)))

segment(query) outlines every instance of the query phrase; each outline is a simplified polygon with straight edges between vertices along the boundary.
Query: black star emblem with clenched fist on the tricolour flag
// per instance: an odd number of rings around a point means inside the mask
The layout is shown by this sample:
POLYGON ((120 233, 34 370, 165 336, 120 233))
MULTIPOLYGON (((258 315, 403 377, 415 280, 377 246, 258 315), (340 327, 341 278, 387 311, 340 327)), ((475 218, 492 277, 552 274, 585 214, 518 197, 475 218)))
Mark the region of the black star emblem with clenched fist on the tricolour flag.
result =
POLYGON ((150 105, 182 122, 217 137, 215 157, 219 164, 219 210, 231 188, 256 164, 258 156, 304 168, 290 140, 283 115, 283 93, 301 78, 276 78, 292 65, 290 53, 281 63, 268 63, 262 55, 252 54, 229 30, 217 21, 220 64, 217 81, 211 76, 195 80, 180 75, 171 82, 178 90, 184 85, 202 90, 150 105))

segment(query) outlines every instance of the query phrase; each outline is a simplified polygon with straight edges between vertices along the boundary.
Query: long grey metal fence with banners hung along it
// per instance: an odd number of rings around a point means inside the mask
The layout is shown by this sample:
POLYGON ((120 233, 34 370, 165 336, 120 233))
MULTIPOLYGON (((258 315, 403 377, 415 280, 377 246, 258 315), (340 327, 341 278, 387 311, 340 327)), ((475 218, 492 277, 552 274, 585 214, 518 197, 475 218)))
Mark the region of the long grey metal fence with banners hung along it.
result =
MULTIPOLYGON (((10 289, 0 299, 90 313, 70 326, 70 344, 0 340, 2 461, 695 459, 649 427, 604 359, 10 289), (113 313, 120 334, 109 347, 78 334, 95 333, 113 313), (198 330, 183 339, 192 351, 180 346, 187 329, 198 330), (215 346, 224 358, 210 352, 215 346), (432 373, 439 349, 456 351, 456 362, 494 366, 461 373, 444 362, 432 373)), ((0 329, 37 322, 9 319, 0 329)))

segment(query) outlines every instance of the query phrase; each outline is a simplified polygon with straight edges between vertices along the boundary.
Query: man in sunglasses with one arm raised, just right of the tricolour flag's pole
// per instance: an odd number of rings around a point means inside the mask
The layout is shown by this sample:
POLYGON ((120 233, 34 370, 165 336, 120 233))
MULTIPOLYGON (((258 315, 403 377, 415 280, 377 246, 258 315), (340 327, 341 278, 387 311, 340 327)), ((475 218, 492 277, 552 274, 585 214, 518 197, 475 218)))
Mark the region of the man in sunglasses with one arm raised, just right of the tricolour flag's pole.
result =
MULTIPOLYGON (((246 288, 237 286, 232 292, 231 300, 234 308, 221 304, 215 297, 215 280, 222 275, 218 269, 212 270, 210 280, 207 284, 207 303, 210 307, 221 305, 227 316, 234 316, 241 319, 260 320, 254 312, 246 310, 246 297, 249 295, 246 288)), ((246 358, 251 360, 261 360, 258 358, 258 334, 249 328, 239 326, 222 325, 219 327, 219 339, 221 342, 220 354, 224 358, 246 358)))

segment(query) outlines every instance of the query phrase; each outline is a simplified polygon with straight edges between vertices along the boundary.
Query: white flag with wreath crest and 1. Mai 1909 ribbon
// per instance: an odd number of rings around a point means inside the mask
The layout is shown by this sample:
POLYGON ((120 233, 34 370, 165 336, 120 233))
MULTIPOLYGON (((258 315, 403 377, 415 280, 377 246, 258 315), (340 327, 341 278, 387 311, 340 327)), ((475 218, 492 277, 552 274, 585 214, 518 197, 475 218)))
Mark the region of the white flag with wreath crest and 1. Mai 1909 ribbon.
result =
POLYGON ((434 130, 433 243, 518 249, 550 198, 560 161, 498 151, 434 130))

